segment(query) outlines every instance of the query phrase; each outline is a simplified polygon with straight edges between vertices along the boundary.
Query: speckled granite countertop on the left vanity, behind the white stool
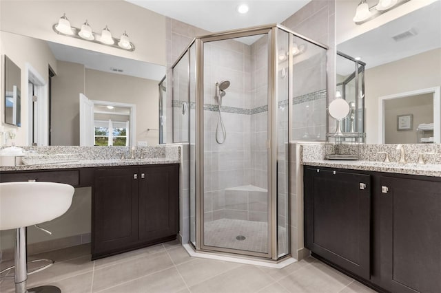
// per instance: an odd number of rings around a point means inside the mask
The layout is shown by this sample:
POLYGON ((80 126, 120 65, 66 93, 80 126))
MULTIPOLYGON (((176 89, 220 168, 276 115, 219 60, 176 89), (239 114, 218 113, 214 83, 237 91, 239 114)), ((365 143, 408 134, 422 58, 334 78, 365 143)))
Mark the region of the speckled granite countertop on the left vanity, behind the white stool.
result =
POLYGON ((179 160, 170 158, 145 158, 145 159, 123 159, 123 160, 75 160, 73 162, 58 162, 49 164, 28 164, 14 167, 0 167, 1 171, 39 171, 46 169, 70 169, 103 166, 134 166, 152 164, 178 164, 179 160))

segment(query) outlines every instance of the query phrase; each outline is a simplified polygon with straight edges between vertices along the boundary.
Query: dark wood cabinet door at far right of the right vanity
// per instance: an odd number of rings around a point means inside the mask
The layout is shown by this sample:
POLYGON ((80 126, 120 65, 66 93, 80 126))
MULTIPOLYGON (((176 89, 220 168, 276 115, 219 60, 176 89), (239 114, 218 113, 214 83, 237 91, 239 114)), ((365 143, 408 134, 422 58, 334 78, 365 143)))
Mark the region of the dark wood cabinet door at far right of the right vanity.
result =
POLYGON ((380 184, 382 283, 391 292, 441 292, 441 182, 380 184))

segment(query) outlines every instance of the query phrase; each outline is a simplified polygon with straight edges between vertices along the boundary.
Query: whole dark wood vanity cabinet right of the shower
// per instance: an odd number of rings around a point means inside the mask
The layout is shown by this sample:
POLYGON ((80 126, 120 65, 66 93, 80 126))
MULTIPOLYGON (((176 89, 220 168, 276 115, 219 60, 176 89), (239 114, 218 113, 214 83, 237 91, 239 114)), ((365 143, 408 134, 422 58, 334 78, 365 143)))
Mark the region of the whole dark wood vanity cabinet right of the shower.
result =
POLYGON ((305 166, 304 197, 314 256, 380 292, 441 292, 441 178, 305 166))

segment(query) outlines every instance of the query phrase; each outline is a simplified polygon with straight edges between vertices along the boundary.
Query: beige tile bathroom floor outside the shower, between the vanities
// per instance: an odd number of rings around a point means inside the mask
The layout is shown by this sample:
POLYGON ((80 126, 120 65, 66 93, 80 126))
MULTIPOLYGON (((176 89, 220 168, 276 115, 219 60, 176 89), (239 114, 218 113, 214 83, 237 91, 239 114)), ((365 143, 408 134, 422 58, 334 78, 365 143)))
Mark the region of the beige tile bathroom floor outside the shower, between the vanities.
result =
MULTIPOLYGON (((176 241, 90 261, 90 246, 34 255, 56 263, 32 274, 28 287, 56 285, 63 293, 371 293, 368 287, 309 257, 283 269, 189 257, 176 241)), ((1 263, 6 268, 8 262, 1 263)), ((11 279, 0 292, 14 292, 11 279)))

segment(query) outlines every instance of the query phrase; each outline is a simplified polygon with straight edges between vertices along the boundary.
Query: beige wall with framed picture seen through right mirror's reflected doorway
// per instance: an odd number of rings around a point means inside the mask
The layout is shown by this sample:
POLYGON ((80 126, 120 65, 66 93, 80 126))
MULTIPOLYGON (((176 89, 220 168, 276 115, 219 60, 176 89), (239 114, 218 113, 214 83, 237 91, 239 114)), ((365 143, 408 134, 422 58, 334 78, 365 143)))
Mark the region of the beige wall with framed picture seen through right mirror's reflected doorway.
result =
MULTIPOLYGON (((387 144, 418 143, 417 127, 433 123, 433 94, 422 94, 384 101, 384 142, 387 144), (397 130, 398 115, 413 115, 411 130, 397 130)), ((433 136, 433 133, 431 134, 433 136)))

